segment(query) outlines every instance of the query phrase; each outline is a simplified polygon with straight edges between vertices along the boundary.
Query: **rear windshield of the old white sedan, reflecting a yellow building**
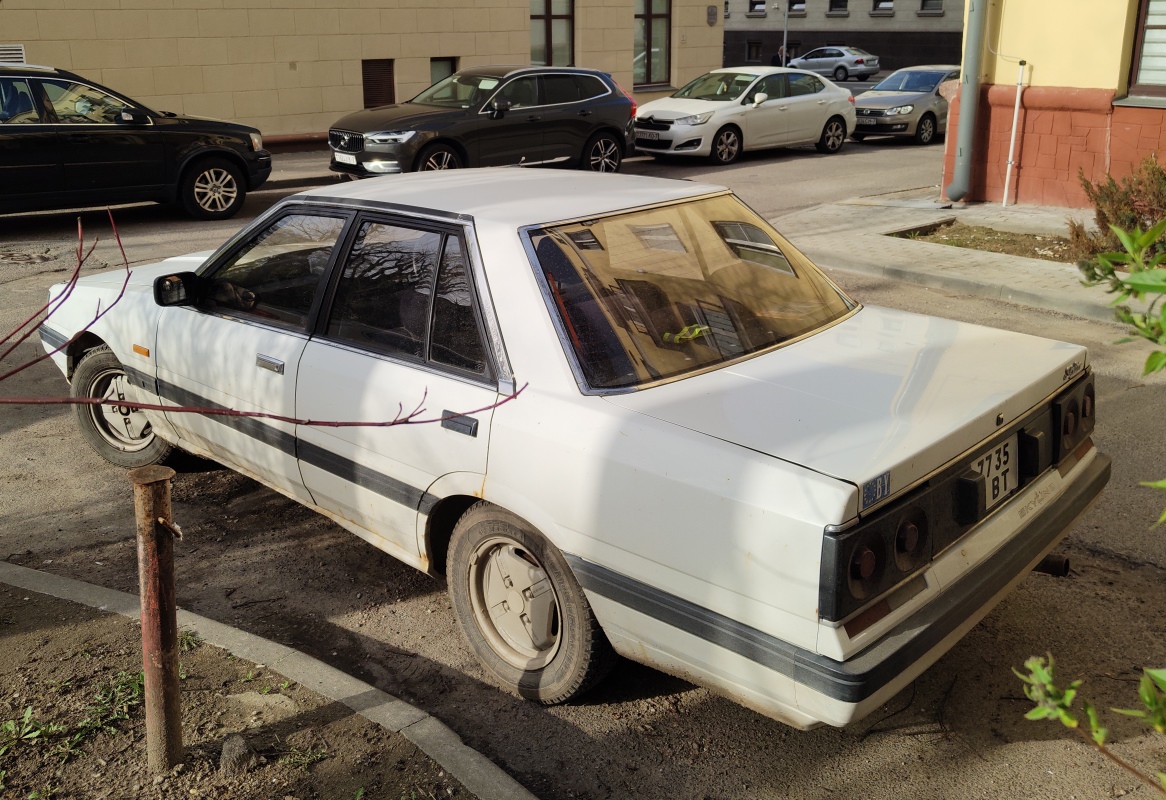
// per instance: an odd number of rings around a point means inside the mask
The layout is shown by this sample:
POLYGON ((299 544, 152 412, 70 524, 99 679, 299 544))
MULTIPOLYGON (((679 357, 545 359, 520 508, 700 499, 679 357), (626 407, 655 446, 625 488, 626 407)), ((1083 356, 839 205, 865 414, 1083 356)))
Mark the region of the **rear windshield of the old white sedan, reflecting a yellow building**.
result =
POLYGON ((536 229, 531 244, 591 388, 732 362, 855 308, 731 195, 536 229))

